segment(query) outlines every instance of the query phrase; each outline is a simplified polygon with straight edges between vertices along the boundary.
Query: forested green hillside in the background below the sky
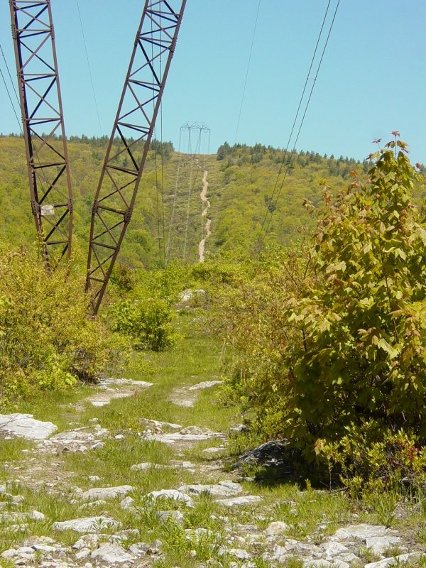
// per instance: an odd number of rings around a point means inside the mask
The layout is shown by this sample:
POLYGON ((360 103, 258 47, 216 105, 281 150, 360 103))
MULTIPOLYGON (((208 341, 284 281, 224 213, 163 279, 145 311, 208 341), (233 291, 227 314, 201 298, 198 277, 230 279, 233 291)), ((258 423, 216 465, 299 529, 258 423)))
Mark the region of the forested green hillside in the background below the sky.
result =
MULTIPOLYGON (((75 245, 82 253, 87 249, 92 200, 106 146, 107 138, 86 136, 71 137, 68 144, 75 245)), ((198 243, 205 236, 200 200, 204 170, 208 172, 208 216, 212 219, 207 254, 219 250, 248 253, 262 224, 269 227, 266 242, 294 241, 302 226, 314 224, 302 207, 304 200, 316 204, 323 185, 334 193, 347 185, 351 172, 356 170, 362 177, 368 170, 367 161, 305 151, 294 153, 289 164, 289 155, 260 144, 231 147, 224 143, 217 154, 207 156, 178 153, 171 143, 154 141, 151 148, 120 253, 121 262, 132 267, 162 266, 165 257, 197 261, 198 243)), ((0 203, 1 241, 31 244, 35 229, 25 151, 23 139, 17 136, 0 137, 0 203)))

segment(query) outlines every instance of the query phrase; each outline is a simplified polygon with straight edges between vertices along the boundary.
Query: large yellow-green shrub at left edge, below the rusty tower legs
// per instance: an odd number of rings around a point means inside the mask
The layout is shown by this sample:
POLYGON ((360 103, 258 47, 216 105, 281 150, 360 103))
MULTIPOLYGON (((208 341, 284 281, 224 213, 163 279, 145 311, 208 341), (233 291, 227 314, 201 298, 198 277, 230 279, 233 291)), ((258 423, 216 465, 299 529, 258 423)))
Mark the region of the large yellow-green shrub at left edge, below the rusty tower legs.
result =
MULTIPOLYGON (((111 361, 109 334, 87 317, 82 280, 0 249, 0 400, 93 380, 111 361)), ((114 357, 115 358, 115 357, 114 357)))

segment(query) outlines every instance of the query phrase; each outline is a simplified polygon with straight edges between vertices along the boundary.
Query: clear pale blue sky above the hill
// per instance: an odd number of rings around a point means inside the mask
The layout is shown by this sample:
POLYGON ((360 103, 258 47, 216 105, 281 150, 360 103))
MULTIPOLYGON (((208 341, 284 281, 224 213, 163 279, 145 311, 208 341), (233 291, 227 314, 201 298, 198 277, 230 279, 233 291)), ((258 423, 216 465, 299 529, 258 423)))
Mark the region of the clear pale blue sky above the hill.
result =
MULTIPOLYGON (((76 0, 51 0, 68 135, 101 133, 76 0)), ((332 0, 334 9, 337 0, 332 0)), ((80 0, 102 133, 111 131, 143 0, 80 0)), ((327 0, 261 0, 237 142, 287 144, 327 0)), ((234 143, 258 0, 187 0, 163 99, 163 139, 188 121, 234 143)), ((392 130, 426 163, 425 0, 342 0, 297 148, 363 159, 392 130)), ((13 77, 9 6, 0 41, 13 77)), ((4 60, 0 67, 5 72, 4 60)), ((18 131, 0 80, 0 131, 18 131)))

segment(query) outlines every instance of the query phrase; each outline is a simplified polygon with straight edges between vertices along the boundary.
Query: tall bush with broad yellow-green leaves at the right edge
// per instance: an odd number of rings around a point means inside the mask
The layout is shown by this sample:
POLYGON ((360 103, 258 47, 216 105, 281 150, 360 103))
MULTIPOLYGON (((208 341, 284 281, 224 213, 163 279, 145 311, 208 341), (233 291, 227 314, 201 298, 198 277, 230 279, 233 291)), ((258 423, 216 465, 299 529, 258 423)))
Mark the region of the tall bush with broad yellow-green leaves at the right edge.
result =
POLYGON ((324 192, 316 278, 288 304, 288 419, 310 452, 370 420, 426 439, 426 231, 405 146, 371 156, 367 185, 324 192))

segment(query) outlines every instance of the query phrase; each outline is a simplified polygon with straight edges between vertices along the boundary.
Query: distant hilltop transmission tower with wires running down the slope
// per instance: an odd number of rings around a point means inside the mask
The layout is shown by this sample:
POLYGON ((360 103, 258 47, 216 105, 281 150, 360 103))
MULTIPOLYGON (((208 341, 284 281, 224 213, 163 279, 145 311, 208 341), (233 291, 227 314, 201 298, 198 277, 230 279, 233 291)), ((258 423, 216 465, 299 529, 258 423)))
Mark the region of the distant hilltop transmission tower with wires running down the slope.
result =
POLYGON ((193 190, 202 187, 202 176, 209 151, 209 127, 197 122, 182 124, 179 135, 180 158, 165 253, 166 265, 171 256, 188 262, 197 258, 200 199, 199 194, 193 190))

